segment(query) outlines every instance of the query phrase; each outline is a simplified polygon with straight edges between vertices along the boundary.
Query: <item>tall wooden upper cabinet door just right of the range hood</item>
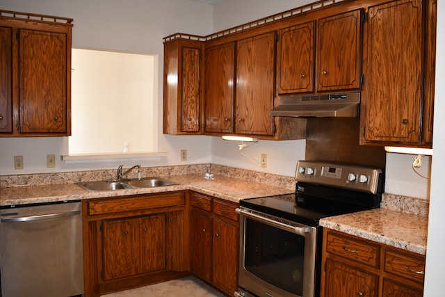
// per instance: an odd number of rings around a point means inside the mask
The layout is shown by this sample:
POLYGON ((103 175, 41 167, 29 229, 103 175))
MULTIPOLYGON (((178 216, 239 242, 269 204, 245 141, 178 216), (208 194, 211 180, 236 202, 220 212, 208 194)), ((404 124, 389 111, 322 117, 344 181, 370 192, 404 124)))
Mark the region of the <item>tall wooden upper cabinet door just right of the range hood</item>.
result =
POLYGON ((421 0, 369 8, 365 141, 420 141, 422 15, 421 0))

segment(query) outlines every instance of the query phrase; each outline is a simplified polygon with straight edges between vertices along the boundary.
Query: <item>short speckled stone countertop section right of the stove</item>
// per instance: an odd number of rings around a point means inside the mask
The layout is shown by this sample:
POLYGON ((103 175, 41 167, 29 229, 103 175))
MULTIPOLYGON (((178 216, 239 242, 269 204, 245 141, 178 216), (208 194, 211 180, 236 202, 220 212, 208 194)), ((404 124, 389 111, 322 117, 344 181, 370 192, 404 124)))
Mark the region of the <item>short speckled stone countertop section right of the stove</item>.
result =
POLYGON ((426 255, 428 234, 428 217, 426 216, 380 208, 322 218, 320 225, 426 255))

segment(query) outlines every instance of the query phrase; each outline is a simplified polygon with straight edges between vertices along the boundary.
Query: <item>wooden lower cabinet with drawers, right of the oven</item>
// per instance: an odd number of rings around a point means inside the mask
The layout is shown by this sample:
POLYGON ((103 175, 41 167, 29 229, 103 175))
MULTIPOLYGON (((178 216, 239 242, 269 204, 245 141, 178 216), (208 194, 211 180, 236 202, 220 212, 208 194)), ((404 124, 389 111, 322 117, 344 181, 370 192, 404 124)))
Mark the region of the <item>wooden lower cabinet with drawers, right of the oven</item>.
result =
POLYGON ((322 297, 420 297, 424 271, 423 255, 323 230, 322 297))

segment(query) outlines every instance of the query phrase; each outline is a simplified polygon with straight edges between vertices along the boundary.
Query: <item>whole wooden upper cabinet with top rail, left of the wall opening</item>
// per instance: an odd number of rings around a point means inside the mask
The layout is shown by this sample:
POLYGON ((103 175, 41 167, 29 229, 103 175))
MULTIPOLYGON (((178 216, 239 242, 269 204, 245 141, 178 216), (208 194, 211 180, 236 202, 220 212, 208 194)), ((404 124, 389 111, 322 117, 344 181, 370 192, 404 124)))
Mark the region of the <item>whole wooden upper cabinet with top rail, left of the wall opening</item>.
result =
POLYGON ((70 135, 72 19, 0 13, 0 136, 70 135))

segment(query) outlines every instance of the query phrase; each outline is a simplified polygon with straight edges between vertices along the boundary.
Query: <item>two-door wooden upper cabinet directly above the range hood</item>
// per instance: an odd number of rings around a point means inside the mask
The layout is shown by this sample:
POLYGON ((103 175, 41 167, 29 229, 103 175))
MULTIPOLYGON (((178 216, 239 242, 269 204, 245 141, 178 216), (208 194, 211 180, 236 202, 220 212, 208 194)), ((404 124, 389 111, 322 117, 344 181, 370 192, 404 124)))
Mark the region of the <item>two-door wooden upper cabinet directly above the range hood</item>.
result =
POLYGON ((362 10, 291 26, 279 34, 278 94, 360 88, 362 10))

